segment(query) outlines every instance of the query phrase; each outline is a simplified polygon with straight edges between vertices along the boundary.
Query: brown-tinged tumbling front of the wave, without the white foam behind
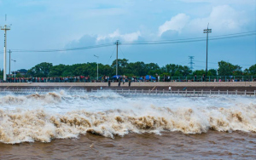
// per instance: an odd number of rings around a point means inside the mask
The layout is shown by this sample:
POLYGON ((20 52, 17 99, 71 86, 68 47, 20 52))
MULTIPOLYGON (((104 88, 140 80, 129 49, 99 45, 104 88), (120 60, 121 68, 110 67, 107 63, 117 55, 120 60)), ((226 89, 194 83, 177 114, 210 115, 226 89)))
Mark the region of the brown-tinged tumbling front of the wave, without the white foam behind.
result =
MULTIPOLYGON (((52 96, 52 95, 51 95, 52 96)), ((180 131, 184 134, 217 131, 256 131, 256 106, 240 105, 230 108, 189 108, 151 106, 147 111, 108 110, 70 111, 49 114, 44 109, 0 110, 0 141, 49 142, 52 139, 77 138, 79 134, 99 134, 113 138, 129 133, 180 131)))

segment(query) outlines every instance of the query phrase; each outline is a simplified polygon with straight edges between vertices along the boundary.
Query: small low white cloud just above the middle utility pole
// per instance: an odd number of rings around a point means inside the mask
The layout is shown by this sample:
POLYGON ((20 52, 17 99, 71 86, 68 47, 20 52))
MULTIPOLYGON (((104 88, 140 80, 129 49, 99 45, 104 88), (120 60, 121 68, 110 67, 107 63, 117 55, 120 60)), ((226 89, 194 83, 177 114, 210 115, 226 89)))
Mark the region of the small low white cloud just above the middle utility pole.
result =
POLYGON ((98 36, 96 38, 96 41, 99 42, 105 39, 111 39, 111 40, 122 40, 125 42, 133 42, 133 41, 136 41, 140 36, 141 36, 141 31, 120 34, 119 30, 116 30, 116 31, 113 31, 113 33, 108 34, 107 36, 98 36))

